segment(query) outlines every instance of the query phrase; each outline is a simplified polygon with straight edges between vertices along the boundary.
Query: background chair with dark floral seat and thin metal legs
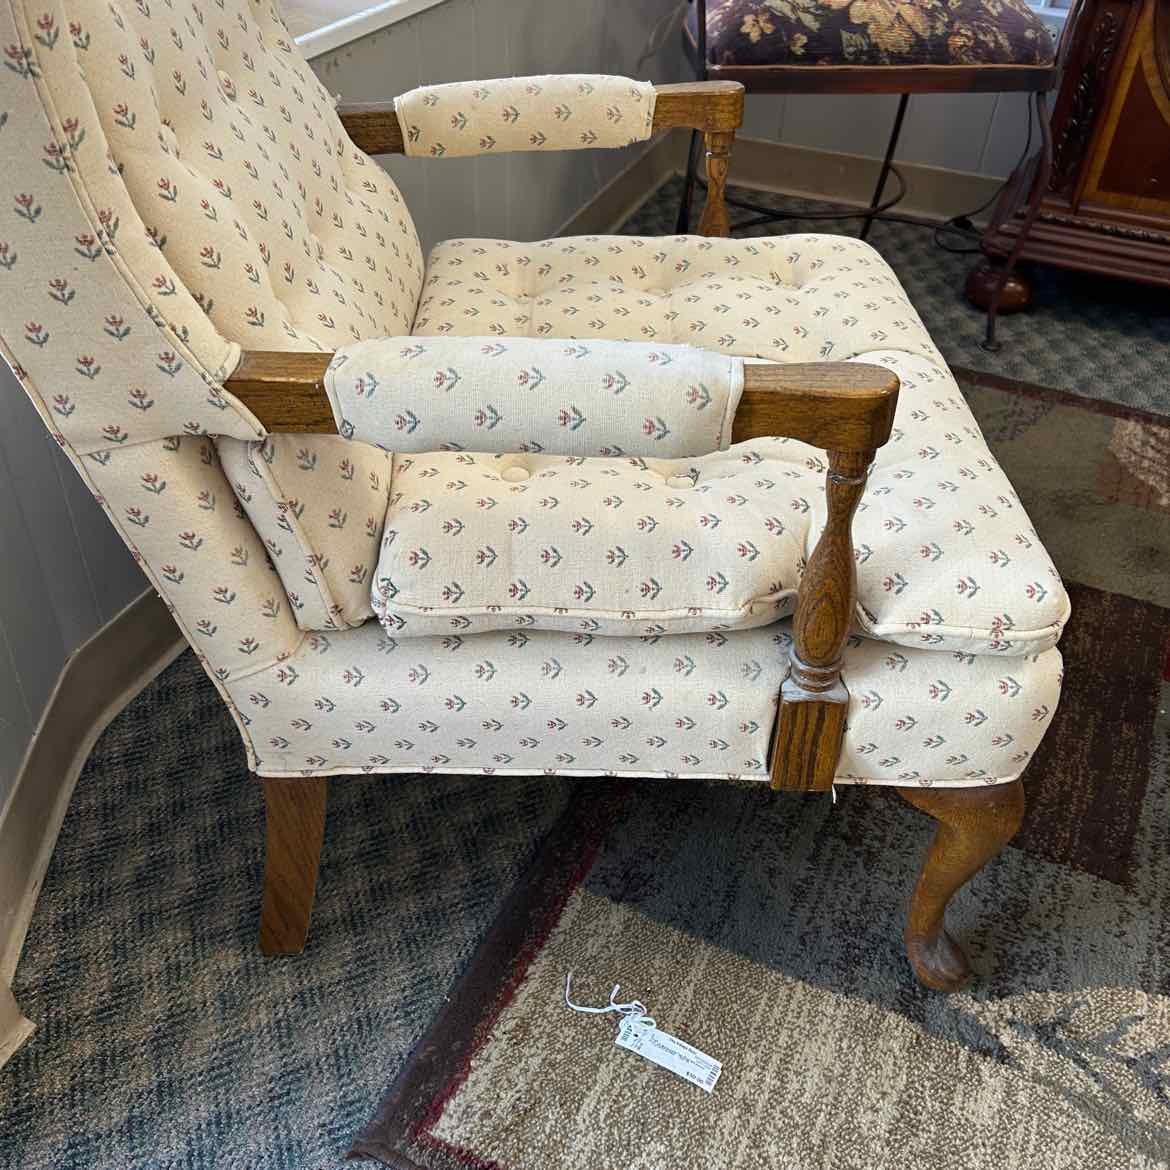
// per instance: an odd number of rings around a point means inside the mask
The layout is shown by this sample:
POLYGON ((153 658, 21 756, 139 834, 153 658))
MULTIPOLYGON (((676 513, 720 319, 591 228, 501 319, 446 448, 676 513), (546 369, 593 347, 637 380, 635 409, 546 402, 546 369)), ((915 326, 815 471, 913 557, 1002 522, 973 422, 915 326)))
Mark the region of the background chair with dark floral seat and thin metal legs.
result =
MULTIPOLYGON (((1075 13, 1065 26, 1061 46, 1068 43, 1074 22, 1075 13)), ((901 95, 873 198, 859 213, 862 239, 874 216, 904 193, 894 152, 911 94, 1032 94, 1040 145, 1011 180, 1023 229, 1017 247, 992 270, 985 297, 983 344, 997 347, 996 318, 1004 290, 1052 165, 1047 92, 1057 83, 1060 53, 1024 0, 691 0, 683 43, 697 78, 738 81, 749 94, 901 95), (892 173, 900 190, 883 202, 892 173)), ((679 232, 690 222, 696 140, 693 136, 679 232)), ((782 218, 750 202, 737 206, 759 213, 739 227, 782 218)))

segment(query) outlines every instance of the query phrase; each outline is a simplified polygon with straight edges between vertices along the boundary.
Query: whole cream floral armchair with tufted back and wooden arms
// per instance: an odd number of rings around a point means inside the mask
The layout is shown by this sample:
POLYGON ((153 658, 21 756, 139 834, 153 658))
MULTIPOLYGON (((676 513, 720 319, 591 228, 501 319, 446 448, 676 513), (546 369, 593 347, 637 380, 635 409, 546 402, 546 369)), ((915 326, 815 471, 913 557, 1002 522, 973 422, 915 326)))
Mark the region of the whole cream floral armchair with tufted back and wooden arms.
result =
POLYGON ((4 355, 263 780, 263 949, 304 943, 326 777, 881 784, 940 821, 907 943, 959 985, 943 914, 1019 823, 1067 598, 881 257, 725 238, 741 88, 335 109, 263 5, 0 21, 4 355), (363 152, 672 126, 702 235, 424 260, 363 152))

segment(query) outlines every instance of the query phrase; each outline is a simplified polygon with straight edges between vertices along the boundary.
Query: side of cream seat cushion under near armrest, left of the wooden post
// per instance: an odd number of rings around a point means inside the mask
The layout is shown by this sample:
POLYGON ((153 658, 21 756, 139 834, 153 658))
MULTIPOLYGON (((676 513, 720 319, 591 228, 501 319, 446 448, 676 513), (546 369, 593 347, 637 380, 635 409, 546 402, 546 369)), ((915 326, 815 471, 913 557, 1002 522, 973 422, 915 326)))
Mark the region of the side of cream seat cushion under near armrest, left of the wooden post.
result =
POLYGON ((786 466, 395 456, 373 608, 398 636, 681 634, 792 612, 805 524, 786 466))

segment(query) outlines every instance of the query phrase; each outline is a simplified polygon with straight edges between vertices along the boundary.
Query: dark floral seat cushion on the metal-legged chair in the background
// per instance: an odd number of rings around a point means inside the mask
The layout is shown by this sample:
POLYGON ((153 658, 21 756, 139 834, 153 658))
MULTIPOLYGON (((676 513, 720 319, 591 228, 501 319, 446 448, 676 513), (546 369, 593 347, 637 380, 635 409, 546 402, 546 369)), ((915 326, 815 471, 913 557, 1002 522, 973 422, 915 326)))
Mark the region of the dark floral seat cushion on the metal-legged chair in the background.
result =
MULTIPOLYGON (((691 5, 687 35, 695 43, 691 5)), ((1049 66, 1024 0, 707 0, 716 66, 1049 66)))

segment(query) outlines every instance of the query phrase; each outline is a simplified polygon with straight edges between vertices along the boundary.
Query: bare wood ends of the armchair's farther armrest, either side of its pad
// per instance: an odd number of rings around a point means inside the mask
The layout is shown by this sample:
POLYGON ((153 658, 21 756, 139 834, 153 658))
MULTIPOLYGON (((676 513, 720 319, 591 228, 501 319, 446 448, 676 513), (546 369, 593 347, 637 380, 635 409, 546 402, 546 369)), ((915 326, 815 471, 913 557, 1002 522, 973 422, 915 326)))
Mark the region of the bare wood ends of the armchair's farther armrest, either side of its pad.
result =
MULTIPOLYGON (((688 81, 654 87, 654 130, 687 126, 729 131, 743 122, 743 85, 736 81, 688 81)), ((401 154, 402 128, 393 102, 349 102, 337 116, 355 146, 367 154, 401 154)))

